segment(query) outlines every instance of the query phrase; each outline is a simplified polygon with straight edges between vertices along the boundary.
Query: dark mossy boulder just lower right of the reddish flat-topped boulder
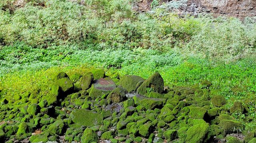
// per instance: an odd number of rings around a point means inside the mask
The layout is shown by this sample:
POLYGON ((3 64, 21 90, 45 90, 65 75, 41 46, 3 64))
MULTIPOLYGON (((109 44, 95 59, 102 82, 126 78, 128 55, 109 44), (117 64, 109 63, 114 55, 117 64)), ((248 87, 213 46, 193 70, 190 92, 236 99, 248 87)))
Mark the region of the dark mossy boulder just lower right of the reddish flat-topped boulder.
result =
POLYGON ((123 88, 118 87, 114 89, 110 94, 108 94, 107 100, 110 100, 111 103, 119 103, 126 100, 123 88))

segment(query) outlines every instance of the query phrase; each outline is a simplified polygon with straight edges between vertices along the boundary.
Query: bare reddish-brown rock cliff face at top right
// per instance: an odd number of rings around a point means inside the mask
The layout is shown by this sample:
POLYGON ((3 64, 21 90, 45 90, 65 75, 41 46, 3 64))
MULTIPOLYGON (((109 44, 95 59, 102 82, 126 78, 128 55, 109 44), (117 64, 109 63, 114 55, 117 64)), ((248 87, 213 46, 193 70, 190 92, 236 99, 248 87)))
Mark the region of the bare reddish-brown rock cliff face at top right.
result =
MULTIPOLYGON (((173 2, 182 0, 162 0, 163 2, 173 2)), ((184 1, 184 0, 183 0, 184 1)), ((137 3, 137 10, 145 12, 150 10, 152 0, 140 0, 137 3)), ((216 16, 232 16, 240 19, 256 16, 256 0, 187 0, 184 6, 174 11, 179 15, 212 13, 216 16)))

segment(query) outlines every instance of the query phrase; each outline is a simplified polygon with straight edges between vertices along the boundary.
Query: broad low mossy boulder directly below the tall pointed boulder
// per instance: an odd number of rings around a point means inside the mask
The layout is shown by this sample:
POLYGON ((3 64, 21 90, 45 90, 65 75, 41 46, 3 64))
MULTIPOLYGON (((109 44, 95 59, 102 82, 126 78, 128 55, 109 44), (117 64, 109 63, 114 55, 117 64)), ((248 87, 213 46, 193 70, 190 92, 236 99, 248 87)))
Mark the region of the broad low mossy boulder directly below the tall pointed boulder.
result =
POLYGON ((165 99, 160 98, 145 98, 140 101, 140 105, 146 109, 161 108, 165 103, 165 99))

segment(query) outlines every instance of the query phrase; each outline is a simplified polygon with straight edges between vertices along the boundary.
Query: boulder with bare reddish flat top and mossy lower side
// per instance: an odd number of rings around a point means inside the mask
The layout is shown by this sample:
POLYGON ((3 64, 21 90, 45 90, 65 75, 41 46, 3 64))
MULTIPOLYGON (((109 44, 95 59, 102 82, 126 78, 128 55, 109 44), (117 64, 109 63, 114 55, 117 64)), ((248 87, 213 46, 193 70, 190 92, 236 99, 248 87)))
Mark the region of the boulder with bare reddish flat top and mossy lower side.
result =
POLYGON ((116 84, 108 78, 100 78, 92 84, 89 96, 94 100, 102 95, 108 95, 112 90, 116 89, 116 84))

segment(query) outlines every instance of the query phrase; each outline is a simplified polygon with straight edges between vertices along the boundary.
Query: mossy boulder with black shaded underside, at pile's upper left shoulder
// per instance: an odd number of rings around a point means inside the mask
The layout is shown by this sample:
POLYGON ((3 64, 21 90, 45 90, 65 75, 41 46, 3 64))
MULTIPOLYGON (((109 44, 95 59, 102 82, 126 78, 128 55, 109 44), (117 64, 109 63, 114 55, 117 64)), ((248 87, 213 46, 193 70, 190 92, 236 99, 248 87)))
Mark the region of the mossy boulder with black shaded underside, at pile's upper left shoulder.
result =
POLYGON ((58 84, 58 86, 60 86, 61 91, 64 94, 69 94, 74 90, 74 84, 69 78, 61 78, 57 80, 55 83, 58 84))

